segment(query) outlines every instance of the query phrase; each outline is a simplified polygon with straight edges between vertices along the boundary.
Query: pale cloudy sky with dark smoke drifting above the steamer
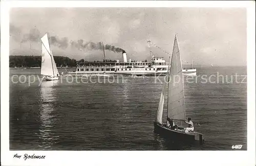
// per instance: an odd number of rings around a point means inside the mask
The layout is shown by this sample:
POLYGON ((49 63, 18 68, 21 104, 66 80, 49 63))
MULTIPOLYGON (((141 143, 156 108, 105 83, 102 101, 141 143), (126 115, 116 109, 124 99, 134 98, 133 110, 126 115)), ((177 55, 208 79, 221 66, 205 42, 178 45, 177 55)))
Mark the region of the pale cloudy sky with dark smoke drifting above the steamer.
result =
POLYGON ((122 61, 125 50, 127 59, 150 60, 151 40, 153 55, 167 61, 177 33, 183 63, 246 65, 245 8, 11 9, 10 55, 41 55, 45 33, 53 55, 77 60, 102 60, 99 42, 108 44, 106 59, 122 61))

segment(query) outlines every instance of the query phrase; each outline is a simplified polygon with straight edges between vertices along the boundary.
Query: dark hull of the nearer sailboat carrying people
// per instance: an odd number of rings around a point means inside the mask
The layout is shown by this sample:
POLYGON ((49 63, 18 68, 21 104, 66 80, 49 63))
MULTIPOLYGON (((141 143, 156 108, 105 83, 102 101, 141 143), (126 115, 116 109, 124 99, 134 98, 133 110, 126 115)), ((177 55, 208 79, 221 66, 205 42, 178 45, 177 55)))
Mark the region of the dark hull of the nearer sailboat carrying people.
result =
POLYGON ((155 126, 155 133, 167 137, 168 139, 174 140, 174 141, 182 141, 186 143, 193 143, 195 141, 199 141, 199 143, 202 145, 204 143, 203 134, 198 132, 181 132, 172 130, 169 128, 166 128, 162 124, 154 122, 155 126))

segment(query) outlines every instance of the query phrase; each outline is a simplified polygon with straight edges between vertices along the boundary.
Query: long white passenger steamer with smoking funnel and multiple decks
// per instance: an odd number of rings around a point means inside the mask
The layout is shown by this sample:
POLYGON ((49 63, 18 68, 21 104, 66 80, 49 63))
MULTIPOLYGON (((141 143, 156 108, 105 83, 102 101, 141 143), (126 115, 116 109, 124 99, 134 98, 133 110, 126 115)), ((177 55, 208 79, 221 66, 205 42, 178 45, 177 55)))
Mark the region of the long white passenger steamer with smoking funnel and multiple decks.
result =
MULTIPOLYGON (((103 50, 104 53, 104 50, 103 50)), ((167 75, 168 62, 163 57, 154 57, 151 62, 127 62, 126 52, 122 52, 123 61, 119 62, 78 62, 76 70, 68 72, 68 76, 165 76, 167 75)), ((192 65, 193 66, 193 65, 192 65)), ((197 69, 188 68, 182 70, 183 75, 196 75, 197 69)))

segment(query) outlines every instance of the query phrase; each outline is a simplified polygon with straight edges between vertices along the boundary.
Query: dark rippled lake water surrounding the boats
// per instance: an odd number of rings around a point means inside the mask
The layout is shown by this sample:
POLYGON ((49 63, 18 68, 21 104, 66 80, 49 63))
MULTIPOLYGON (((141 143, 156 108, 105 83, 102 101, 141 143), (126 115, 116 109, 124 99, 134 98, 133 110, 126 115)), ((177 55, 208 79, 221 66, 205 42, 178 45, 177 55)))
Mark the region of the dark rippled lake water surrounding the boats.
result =
POLYGON ((154 77, 109 78, 113 83, 106 78, 70 83, 65 77, 29 85, 28 76, 40 69, 10 69, 10 150, 232 150, 232 145, 247 150, 247 84, 245 76, 235 82, 236 73, 246 75, 246 67, 201 67, 197 82, 194 77, 184 83, 186 115, 204 134, 200 146, 154 133, 163 85, 154 77), (223 83, 200 78, 217 73, 223 83))

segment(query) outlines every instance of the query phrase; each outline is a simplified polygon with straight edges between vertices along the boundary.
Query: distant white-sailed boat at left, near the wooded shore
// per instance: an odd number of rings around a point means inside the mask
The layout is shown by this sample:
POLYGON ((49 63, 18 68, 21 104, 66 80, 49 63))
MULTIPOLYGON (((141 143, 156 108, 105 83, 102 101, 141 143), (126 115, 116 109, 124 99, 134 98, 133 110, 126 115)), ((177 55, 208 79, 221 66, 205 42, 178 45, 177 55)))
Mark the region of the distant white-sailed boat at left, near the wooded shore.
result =
POLYGON ((41 75, 47 81, 58 80, 59 72, 54 61, 52 50, 50 47, 48 34, 41 38, 42 42, 42 61, 41 61, 41 75))

